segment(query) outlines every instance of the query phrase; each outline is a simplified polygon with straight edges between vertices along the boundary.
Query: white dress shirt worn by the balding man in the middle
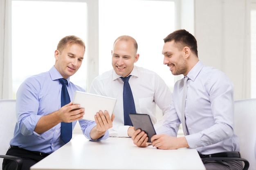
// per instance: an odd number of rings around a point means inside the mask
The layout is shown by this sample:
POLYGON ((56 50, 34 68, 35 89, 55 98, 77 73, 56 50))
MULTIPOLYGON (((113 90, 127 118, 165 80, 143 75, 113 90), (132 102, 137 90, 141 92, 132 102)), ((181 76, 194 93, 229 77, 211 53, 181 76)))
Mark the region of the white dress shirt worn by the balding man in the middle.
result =
MULTIPOLYGON (((171 90, 159 75, 145 68, 134 66, 129 84, 134 98, 136 113, 148 114, 155 124, 156 104, 166 113, 171 105, 171 90)), ((124 82, 115 71, 109 70, 97 76, 90 87, 90 93, 117 98, 114 109, 115 120, 109 129, 111 137, 128 137, 130 126, 124 126, 123 106, 124 82)))

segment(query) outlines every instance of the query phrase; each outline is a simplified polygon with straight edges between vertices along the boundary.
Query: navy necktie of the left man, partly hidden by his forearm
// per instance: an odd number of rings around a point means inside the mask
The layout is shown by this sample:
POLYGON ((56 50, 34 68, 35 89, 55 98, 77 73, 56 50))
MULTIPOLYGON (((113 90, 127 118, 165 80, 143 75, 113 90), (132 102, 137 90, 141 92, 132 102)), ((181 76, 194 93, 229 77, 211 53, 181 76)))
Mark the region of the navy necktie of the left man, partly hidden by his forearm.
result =
MULTIPOLYGON (((61 89, 61 107, 70 103, 70 95, 67 92, 67 80, 64 78, 58 79, 62 84, 61 89)), ((72 138, 72 123, 61 122, 61 139, 65 144, 72 138)))

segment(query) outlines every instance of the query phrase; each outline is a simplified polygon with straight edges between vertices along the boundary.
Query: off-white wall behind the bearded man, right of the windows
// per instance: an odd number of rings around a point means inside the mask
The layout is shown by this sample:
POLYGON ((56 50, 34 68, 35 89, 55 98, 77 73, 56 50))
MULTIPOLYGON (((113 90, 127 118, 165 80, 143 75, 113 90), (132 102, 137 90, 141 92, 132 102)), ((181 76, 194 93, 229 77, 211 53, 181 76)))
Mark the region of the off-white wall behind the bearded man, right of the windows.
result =
POLYGON ((198 57, 225 72, 235 100, 250 98, 249 0, 194 0, 198 57))

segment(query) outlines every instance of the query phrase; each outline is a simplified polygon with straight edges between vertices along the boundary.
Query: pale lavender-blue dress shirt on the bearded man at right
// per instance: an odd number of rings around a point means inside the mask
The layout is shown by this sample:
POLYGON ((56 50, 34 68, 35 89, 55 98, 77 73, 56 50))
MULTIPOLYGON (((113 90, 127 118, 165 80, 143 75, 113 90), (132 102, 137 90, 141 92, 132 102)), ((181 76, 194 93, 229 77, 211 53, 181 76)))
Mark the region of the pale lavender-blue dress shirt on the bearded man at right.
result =
MULTIPOLYGON (((189 135, 185 137, 189 147, 205 155, 239 151, 238 136, 234 134, 233 83, 223 72, 201 61, 187 76, 185 116, 189 135)), ((174 85, 172 106, 157 133, 177 136, 182 120, 183 79, 174 85)))

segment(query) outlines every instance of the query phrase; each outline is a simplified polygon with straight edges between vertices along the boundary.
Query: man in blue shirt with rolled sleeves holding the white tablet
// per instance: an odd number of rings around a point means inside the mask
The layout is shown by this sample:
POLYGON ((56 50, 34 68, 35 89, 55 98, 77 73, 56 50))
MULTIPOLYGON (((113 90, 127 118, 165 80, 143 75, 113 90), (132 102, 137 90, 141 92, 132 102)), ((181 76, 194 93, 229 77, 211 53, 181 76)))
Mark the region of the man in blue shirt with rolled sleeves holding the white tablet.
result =
MULTIPOLYGON (((16 99, 17 124, 6 155, 23 159, 22 170, 29 168, 65 144, 61 139, 61 122, 72 122, 72 130, 79 120, 83 135, 99 141, 109 137, 114 115, 107 111, 95 113, 95 122, 83 120, 84 108, 70 102, 61 107, 62 84, 67 80, 67 92, 72 101, 76 90, 85 92, 70 82, 70 76, 80 68, 85 53, 83 40, 66 36, 55 50, 55 64, 48 71, 27 78, 19 87, 16 99), (105 117, 106 116, 106 117, 105 117)), ((85 153, 86 154, 86 153, 85 153)), ((16 169, 16 163, 4 159, 4 170, 16 169)))

